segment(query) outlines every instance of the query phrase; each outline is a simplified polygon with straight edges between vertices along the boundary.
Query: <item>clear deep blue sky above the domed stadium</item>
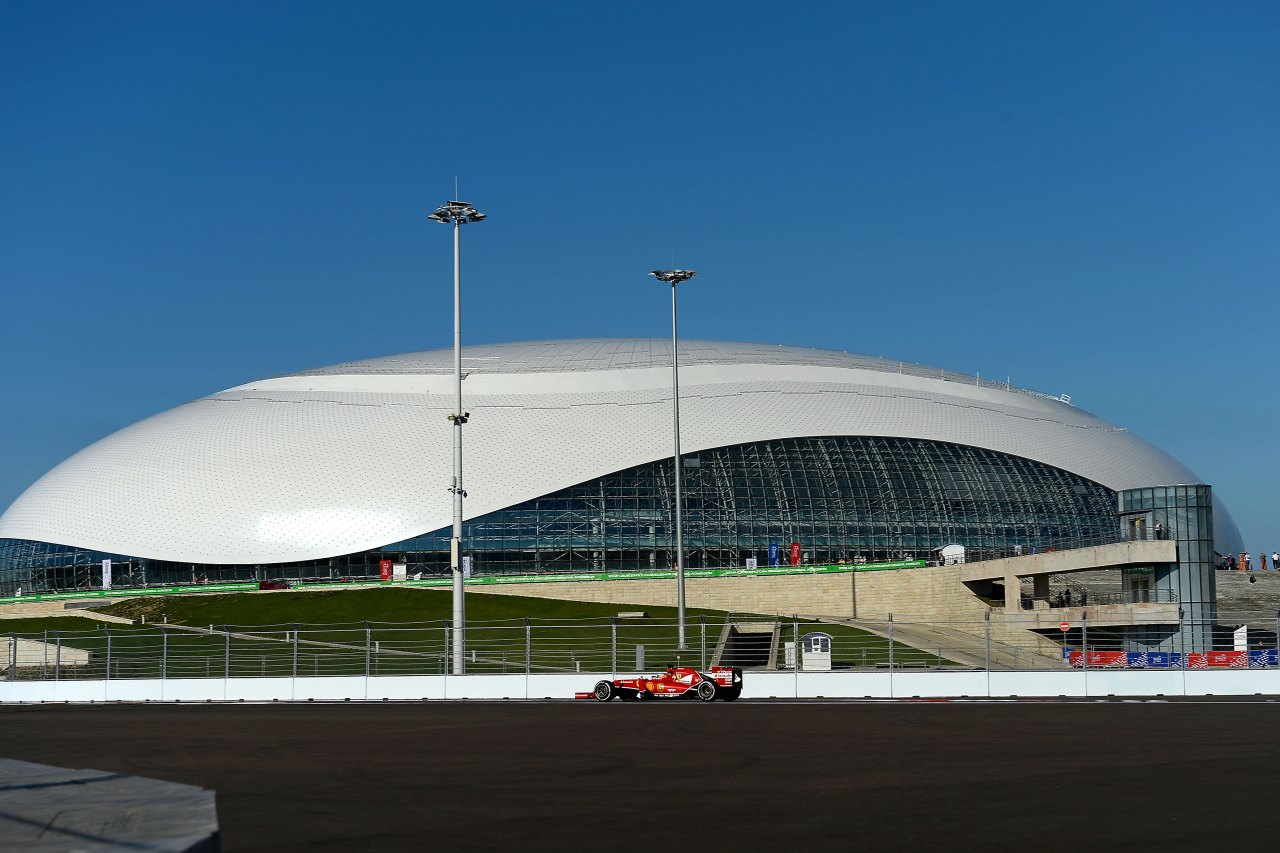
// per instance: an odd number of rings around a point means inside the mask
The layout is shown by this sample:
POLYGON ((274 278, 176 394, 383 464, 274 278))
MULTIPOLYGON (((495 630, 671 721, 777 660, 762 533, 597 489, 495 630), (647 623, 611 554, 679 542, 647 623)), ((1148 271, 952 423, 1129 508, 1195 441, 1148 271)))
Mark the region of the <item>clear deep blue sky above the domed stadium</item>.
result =
POLYGON ((0 507, 262 375, 823 346, 1070 393, 1280 548, 1280 4, 0 4, 0 507))

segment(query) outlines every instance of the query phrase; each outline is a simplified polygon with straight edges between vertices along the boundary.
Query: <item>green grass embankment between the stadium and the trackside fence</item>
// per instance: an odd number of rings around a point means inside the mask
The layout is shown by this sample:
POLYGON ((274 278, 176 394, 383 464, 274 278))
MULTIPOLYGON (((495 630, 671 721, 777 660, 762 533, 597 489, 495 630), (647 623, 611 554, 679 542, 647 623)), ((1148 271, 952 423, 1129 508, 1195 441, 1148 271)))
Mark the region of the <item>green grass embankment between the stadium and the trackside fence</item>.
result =
MULTIPOLYGON (((216 678, 438 674, 448 665, 449 590, 184 594, 96 610, 138 624, 106 625, 79 617, 5 620, 0 631, 32 639, 56 631, 64 646, 91 652, 90 666, 64 669, 63 678, 102 678, 108 666, 110 678, 216 678)), ((637 647, 644 647, 645 669, 710 663, 727 615, 690 608, 690 651, 681 653, 676 612, 675 607, 472 594, 467 597, 467 667, 471 672, 518 672, 526 666, 535 672, 630 670, 637 647), (618 619, 616 630, 611 625, 618 612, 637 610, 646 617, 618 619)), ((782 642, 788 642, 791 624, 782 624, 782 642)), ((888 642, 882 637, 842 625, 800 626, 801 637, 812 630, 833 637, 836 666, 888 662, 888 642)), ((893 661, 928 666, 937 656, 896 643, 893 661)))

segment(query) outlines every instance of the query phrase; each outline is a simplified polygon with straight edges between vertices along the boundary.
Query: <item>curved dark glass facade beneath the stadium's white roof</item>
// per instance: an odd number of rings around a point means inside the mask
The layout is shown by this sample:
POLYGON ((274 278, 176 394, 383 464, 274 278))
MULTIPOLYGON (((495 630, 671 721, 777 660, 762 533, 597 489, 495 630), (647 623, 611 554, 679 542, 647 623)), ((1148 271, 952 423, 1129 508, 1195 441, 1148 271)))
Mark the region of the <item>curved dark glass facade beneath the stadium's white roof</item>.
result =
MULTIPOLYGON (((950 543, 965 546, 969 560, 982 560, 1116 535, 1117 496, 1111 489, 963 444, 787 438, 690 453, 682 462, 690 567, 741 566, 753 557, 768 565, 771 546, 786 562, 791 543, 799 543, 805 564, 835 564, 933 560, 950 543)), ((637 465, 472 519, 463 529, 472 570, 669 567, 672 474, 669 459, 637 465)), ((97 587, 104 557, 113 560, 115 585, 124 587, 375 578, 383 558, 407 564, 411 575, 447 574, 448 555, 448 528, 364 553, 264 566, 173 564, 3 539, 0 594, 19 585, 29 592, 97 587)))

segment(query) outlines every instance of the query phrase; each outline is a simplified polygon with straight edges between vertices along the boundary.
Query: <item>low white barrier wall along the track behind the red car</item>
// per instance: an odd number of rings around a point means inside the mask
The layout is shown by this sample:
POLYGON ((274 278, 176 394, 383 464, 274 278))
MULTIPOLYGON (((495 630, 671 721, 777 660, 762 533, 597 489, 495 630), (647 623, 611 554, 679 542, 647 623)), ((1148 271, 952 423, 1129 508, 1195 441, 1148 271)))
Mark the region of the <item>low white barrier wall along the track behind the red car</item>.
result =
MULTIPOLYGON (((626 678, 627 674, 618 674, 626 678)), ((0 681, 0 703, 571 699, 608 672, 0 681)), ((1280 670, 748 672, 745 699, 1280 695, 1280 670)))

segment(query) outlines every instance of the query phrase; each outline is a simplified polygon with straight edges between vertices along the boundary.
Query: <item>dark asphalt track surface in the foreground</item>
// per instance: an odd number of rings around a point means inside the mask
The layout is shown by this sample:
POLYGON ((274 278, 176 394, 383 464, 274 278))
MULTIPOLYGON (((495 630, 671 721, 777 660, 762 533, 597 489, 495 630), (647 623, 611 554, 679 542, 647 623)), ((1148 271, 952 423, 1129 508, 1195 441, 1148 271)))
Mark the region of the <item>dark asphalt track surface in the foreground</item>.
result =
POLYGON ((1276 703, 0 708, 0 754, 218 792, 224 850, 1270 844, 1276 703), (676 847, 678 845, 678 847, 676 847))

